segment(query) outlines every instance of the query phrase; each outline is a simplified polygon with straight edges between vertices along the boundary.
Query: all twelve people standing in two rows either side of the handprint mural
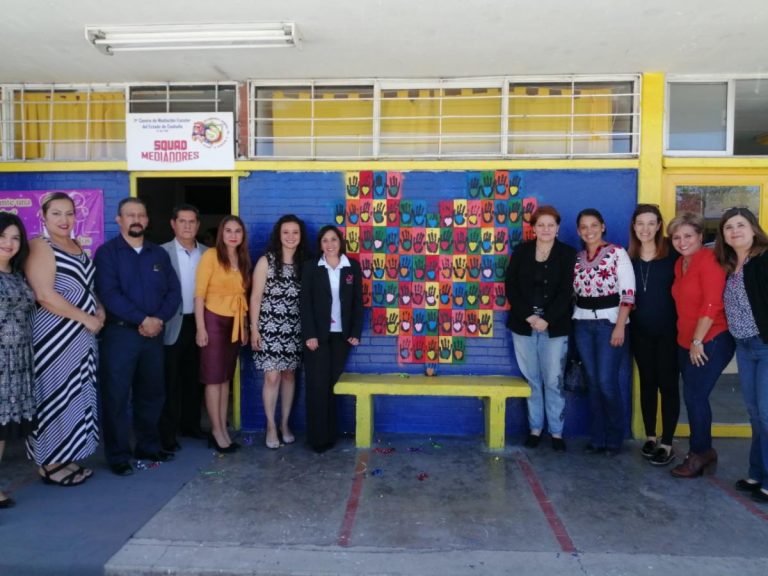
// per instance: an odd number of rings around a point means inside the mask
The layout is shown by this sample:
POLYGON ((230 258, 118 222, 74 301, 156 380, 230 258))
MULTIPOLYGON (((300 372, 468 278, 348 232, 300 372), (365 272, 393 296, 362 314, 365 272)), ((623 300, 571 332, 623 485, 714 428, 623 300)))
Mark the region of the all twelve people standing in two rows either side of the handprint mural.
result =
MULTIPOLYGON (((178 206, 175 238, 157 246, 144 238, 146 206, 126 198, 116 217, 120 234, 92 262, 72 237, 69 196, 49 195, 41 211, 46 233, 32 240, 18 217, 0 213, 0 457, 6 440, 24 437, 44 482, 80 485, 93 475, 78 462, 99 444, 100 413, 106 459, 121 476, 133 473, 132 457, 172 460, 178 434, 234 452, 229 389, 248 343, 264 371, 266 447, 295 441, 290 415, 302 361, 307 441, 317 452, 334 445, 333 385, 363 321, 362 272, 345 255, 338 228, 320 229, 319 257, 310 258, 304 223, 283 216, 251 270, 239 217, 221 221, 209 249, 196 240, 197 209, 178 206), (208 435, 200 428, 203 399, 208 435)), ((619 368, 631 346, 647 437, 642 455, 656 466, 676 458, 682 375, 690 449, 671 473, 712 473, 709 396, 735 350, 752 425, 748 475, 736 488, 768 501, 768 236, 754 214, 726 211, 714 250, 703 245, 700 216, 678 214, 665 236, 661 212, 650 204, 632 215, 628 251, 604 239, 595 209, 577 216, 578 252, 558 240, 560 222, 553 206, 538 207, 535 239, 515 248, 507 269, 507 326, 532 391, 526 447, 539 445, 546 424, 552 448, 566 450, 562 382, 572 346, 589 384, 585 451, 620 452, 619 368)), ((0 508, 11 505, 0 492, 0 508)))

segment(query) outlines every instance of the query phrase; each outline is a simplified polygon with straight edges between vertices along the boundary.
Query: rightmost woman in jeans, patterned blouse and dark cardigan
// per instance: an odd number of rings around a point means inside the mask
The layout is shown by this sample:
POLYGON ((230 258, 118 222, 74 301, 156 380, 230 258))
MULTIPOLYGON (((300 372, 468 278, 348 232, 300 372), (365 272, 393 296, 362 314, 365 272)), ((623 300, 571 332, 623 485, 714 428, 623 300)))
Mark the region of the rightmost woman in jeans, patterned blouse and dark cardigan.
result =
POLYGON ((736 481, 756 502, 768 502, 768 236, 746 208, 720 219, 715 255, 728 274, 725 315, 736 339, 741 393, 752 425, 749 475, 736 481))

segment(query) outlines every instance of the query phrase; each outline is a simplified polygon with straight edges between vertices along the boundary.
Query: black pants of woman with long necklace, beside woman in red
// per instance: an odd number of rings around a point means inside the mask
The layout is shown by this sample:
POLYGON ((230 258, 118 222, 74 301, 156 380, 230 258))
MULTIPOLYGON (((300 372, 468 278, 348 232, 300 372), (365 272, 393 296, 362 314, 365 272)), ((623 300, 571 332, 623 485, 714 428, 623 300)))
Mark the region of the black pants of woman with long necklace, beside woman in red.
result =
POLYGON ((680 417, 680 369, 677 334, 647 334, 629 325, 630 345, 640 373, 640 411, 646 436, 656 436, 656 409, 661 395, 661 442, 672 445, 680 417))

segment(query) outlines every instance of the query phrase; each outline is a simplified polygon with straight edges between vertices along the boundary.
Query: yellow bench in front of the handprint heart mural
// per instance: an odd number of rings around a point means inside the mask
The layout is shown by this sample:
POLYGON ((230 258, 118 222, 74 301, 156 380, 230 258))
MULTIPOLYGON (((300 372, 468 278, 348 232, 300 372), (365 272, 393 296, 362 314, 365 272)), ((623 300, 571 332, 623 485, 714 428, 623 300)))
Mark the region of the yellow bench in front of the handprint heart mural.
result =
POLYGON ((336 394, 357 396, 355 443, 369 448, 373 438, 373 397, 465 396, 483 399, 485 442, 491 450, 504 448, 507 398, 527 398, 531 387, 514 376, 423 376, 418 374, 354 374, 345 372, 334 387, 336 394))

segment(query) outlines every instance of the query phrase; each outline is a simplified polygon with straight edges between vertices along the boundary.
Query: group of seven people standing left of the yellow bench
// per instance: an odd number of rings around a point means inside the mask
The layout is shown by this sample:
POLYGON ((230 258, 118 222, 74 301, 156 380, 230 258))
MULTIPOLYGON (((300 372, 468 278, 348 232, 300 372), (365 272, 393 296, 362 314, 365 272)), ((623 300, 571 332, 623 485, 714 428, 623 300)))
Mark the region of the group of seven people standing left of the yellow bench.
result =
MULTIPOLYGON (((174 239, 158 246, 144 238, 144 203, 125 198, 120 233, 92 261, 73 238, 67 194, 48 195, 41 213, 44 234, 28 240, 20 219, 0 212, 0 457, 6 440, 26 438, 42 480, 70 487, 93 475, 78 462, 95 452, 100 429, 120 476, 133 474, 132 458, 173 460, 179 435, 234 452, 229 389, 249 342, 265 374, 266 446, 295 441, 302 357, 308 442, 318 452, 333 446, 333 384, 362 332, 362 274, 340 230, 320 230, 321 256, 311 260, 304 223, 283 216, 252 270, 239 217, 221 221, 209 249, 196 240, 198 210, 180 205, 174 239)), ((0 492, 0 508, 13 504, 0 492)))

